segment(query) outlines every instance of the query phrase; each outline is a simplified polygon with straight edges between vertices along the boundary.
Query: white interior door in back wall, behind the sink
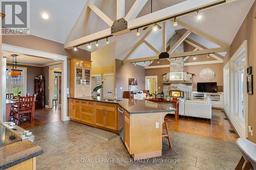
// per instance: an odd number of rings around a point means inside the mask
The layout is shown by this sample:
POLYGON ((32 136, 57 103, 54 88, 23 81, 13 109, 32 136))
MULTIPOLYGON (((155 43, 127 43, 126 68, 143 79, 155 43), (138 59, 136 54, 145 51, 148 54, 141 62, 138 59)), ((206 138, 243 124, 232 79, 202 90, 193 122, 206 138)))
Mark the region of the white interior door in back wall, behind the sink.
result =
POLYGON ((114 75, 104 75, 103 76, 104 83, 103 83, 103 96, 104 98, 111 98, 114 95, 114 75))

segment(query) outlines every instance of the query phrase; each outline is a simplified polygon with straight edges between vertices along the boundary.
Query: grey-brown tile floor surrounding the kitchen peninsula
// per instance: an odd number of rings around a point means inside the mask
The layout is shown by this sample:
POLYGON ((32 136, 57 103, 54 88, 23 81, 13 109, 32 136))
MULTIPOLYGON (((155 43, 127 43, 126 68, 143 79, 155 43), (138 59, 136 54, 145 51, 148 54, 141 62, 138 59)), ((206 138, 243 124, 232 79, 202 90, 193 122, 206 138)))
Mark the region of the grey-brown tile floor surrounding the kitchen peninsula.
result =
POLYGON ((234 143, 170 131, 173 148, 165 139, 158 159, 169 162, 117 162, 118 158, 130 160, 120 137, 105 141, 87 134, 89 128, 73 121, 30 128, 37 137, 35 143, 44 149, 37 157, 37 169, 234 169, 241 158, 234 143), (99 158, 113 158, 113 162, 100 163, 104 160, 99 158), (175 159, 179 163, 170 162, 175 159))

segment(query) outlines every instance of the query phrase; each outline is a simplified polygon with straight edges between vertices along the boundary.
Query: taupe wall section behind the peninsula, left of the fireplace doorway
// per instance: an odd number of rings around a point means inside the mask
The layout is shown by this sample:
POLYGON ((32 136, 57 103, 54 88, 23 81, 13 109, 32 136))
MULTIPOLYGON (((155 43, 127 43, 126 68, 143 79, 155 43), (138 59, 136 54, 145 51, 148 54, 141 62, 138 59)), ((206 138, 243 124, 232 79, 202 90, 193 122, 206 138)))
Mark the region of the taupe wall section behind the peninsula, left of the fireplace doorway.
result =
POLYGON ((145 89, 145 68, 131 63, 123 64, 122 60, 116 59, 116 89, 118 98, 123 97, 123 91, 128 91, 129 78, 137 78, 139 90, 145 89))

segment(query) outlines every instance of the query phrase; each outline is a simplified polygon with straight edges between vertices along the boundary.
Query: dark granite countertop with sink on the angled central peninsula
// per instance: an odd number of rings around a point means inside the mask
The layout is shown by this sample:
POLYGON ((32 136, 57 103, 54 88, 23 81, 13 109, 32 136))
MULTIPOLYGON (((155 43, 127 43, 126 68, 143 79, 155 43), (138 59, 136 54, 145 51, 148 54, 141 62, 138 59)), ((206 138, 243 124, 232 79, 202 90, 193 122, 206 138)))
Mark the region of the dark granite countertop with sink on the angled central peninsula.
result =
POLYGON ((103 101, 104 99, 94 98, 92 96, 77 97, 77 98, 70 98, 70 99, 79 99, 79 100, 118 104, 123 109, 125 109, 127 112, 129 112, 130 114, 177 111, 176 109, 174 109, 172 107, 167 107, 167 106, 157 104, 157 103, 154 103, 151 101, 146 101, 146 100, 121 99, 121 101, 113 102, 113 101, 103 101))

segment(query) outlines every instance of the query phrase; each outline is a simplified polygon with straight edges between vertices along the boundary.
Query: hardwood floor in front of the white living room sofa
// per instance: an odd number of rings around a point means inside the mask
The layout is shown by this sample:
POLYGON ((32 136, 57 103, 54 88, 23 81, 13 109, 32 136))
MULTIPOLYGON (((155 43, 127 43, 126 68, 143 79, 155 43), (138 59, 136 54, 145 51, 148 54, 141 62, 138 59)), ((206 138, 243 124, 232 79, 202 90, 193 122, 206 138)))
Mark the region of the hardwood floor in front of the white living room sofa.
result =
POLYGON ((217 109, 212 109, 211 120, 180 116, 178 122, 176 122, 174 115, 168 114, 165 116, 165 120, 168 122, 168 130, 234 143, 239 136, 229 132, 234 128, 229 120, 224 118, 226 118, 225 113, 217 109))

